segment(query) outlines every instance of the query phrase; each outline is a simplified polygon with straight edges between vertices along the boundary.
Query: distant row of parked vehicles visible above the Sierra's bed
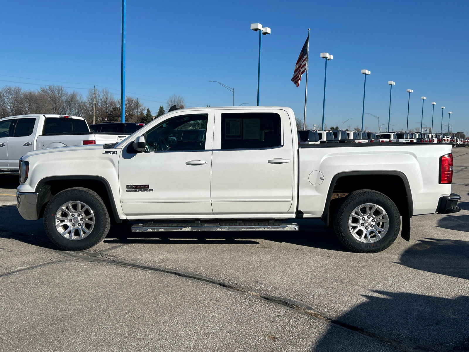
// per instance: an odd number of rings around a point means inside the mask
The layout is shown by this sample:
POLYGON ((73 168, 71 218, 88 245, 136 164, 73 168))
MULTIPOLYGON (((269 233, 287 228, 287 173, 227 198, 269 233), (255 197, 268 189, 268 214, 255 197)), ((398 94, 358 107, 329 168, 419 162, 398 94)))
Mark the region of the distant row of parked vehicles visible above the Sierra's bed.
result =
POLYGON ((468 139, 439 136, 428 133, 402 133, 386 132, 374 133, 348 130, 303 130, 298 131, 300 144, 320 143, 380 143, 380 142, 406 142, 406 143, 445 143, 453 146, 468 145, 468 139))

